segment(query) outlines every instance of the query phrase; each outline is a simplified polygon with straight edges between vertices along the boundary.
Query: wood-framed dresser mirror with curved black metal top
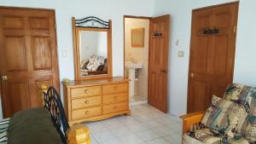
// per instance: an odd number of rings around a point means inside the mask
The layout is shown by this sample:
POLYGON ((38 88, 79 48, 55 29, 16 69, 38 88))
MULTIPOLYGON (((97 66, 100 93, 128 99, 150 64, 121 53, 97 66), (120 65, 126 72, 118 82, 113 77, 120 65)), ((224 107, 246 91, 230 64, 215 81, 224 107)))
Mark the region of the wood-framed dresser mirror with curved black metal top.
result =
POLYGON ((75 79, 112 77, 112 22, 73 17, 75 79))

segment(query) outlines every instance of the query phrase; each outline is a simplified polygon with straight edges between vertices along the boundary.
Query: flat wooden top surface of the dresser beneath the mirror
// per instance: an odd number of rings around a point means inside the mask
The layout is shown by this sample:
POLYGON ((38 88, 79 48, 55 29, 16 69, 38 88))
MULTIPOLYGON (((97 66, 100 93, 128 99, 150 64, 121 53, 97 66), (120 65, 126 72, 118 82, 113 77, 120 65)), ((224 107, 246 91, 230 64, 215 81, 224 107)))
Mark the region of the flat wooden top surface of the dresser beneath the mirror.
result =
POLYGON ((98 84, 115 84, 128 82, 129 79, 123 77, 113 77, 113 78, 101 78, 101 79, 90 79, 90 80, 73 80, 68 84, 64 84, 67 87, 79 86, 79 85, 98 85, 98 84))

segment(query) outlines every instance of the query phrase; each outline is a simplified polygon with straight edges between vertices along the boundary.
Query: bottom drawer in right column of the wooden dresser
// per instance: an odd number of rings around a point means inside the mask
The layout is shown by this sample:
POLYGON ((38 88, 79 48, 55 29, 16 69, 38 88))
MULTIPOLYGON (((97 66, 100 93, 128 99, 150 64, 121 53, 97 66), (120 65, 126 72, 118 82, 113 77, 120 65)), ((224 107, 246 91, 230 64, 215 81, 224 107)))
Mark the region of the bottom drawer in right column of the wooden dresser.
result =
POLYGON ((113 104, 113 105, 106 105, 102 107, 102 113, 103 114, 108 114, 108 113, 113 113, 113 112, 121 112, 128 110, 128 102, 122 102, 118 104, 113 104))

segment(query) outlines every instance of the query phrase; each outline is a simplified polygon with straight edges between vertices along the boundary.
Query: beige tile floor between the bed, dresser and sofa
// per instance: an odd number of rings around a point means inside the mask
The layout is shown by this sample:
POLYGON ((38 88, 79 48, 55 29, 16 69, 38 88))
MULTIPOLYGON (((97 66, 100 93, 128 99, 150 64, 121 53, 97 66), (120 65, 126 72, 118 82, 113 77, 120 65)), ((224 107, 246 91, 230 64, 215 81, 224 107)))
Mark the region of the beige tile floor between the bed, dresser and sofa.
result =
POLYGON ((131 116, 84 123, 91 144, 181 144, 182 123, 148 104, 130 107, 131 116))

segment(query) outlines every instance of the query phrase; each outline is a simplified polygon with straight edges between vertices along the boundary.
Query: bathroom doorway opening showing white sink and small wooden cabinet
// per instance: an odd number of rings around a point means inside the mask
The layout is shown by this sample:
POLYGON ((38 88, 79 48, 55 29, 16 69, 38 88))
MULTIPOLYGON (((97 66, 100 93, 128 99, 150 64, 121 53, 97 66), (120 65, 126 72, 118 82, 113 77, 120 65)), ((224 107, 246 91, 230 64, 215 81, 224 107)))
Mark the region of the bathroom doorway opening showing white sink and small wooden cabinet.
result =
POLYGON ((124 75, 129 78, 130 105, 148 103, 150 17, 124 16, 124 75))

